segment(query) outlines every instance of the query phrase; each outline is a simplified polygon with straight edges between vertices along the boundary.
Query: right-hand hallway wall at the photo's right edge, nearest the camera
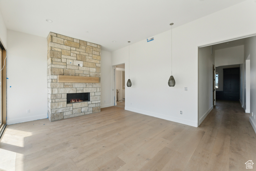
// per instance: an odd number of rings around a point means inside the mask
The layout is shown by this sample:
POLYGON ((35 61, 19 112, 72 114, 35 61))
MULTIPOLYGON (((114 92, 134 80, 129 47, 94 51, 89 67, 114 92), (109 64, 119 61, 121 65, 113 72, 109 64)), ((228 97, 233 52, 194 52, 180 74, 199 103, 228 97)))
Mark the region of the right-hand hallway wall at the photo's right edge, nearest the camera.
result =
MULTIPOLYGON (((256 36, 247 38, 244 44, 245 58, 250 56, 250 123, 256 132, 256 36)), ((248 59, 248 58, 247 58, 248 59)), ((248 103, 247 103, 248 104, 248 103)))

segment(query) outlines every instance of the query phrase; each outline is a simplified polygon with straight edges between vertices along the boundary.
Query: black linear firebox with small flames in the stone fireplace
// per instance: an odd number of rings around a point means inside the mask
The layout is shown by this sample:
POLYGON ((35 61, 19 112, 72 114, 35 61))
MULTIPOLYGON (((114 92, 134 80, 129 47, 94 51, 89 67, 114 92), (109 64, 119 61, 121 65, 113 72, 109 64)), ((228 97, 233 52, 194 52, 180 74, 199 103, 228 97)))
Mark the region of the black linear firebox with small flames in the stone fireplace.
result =
POLYGON ((67 104, 90 101, 90 93, 67 93, 67 104))

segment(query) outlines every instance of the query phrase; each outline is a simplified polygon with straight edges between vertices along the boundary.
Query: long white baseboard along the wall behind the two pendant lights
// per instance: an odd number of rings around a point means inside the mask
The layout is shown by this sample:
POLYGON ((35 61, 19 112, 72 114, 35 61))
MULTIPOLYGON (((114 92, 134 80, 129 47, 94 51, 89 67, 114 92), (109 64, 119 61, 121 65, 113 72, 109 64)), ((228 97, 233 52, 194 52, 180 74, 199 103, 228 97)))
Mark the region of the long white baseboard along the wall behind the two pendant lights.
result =
POLYGON ((162 114, 158 114, 158 113, 152 113, 152 112, 147 112, 147 111, 143 111, 143 110, 133 109, 133 108, 129 108, 129 107, 124 107, 124 109, 132 111, 132 112, 148 115, 148 116, 157 117, 157 118, 160 118, 160 119, 165 119, 165 120, 168 120, 168 121, 178 122, 178 123, 182 123, 182 124, 185 124, 185 125, 190 125, 190 126, 197 127, 197 122, 193 122, 193 121, 188 121, 188 120, 179 119, 179 118, 172 117, 172 116, 166 116, 166 115, 162 115, 162 114))

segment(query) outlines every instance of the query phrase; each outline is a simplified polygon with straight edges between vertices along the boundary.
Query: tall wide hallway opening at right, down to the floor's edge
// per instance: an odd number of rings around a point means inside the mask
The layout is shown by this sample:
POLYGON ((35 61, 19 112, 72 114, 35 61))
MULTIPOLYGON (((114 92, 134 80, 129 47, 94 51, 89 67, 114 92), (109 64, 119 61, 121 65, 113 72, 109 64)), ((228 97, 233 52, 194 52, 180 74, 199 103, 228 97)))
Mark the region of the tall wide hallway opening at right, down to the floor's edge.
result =
MULTIPOLYGON (((242 108, 246 106, 245 102, 250 106, 250 99, 244 95, 250 94, 245 81, 246 77, 249 79, 250 70, 246 66, 246 61, 249 62, 244 46, 253 36, 255 34, 198 48, 198 126, 215 104, 219 104, 215 103, 218 100, 239 101, 242 108)), ((248 112, 248 109, 244 111, 248 112)))

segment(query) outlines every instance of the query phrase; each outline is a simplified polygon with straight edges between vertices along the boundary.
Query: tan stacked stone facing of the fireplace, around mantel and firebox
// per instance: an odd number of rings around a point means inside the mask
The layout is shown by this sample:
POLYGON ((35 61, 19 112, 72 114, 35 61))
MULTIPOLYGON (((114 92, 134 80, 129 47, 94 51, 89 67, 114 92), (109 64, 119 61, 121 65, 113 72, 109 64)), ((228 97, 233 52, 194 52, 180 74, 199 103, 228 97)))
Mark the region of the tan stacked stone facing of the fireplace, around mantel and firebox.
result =
POLYGON ((52 32, 47 43, 49 120, 100 112, 100 83, 61 83, 57 76, 101 77, 101 46, 52 32), (83 66, 78 67, 78 63, 83 66), (67 93, 83 92, 90 92, 89 102, 67 104, 67 93))

